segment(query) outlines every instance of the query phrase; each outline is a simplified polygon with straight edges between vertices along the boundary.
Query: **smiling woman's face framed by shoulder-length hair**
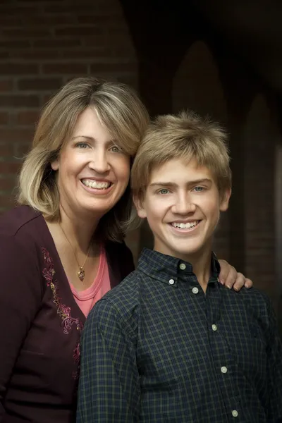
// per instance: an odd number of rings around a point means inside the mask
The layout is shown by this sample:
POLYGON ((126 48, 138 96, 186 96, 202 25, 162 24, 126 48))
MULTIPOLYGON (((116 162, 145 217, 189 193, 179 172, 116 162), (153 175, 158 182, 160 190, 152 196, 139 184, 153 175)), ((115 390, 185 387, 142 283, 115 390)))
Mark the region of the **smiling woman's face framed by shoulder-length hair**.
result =
POLYGON ((90 219, 99 219, 114 207, 130 178, 129 155, 90 107, 78 117, 71 138, 51 167, 59 173, 61 208, 90 219))

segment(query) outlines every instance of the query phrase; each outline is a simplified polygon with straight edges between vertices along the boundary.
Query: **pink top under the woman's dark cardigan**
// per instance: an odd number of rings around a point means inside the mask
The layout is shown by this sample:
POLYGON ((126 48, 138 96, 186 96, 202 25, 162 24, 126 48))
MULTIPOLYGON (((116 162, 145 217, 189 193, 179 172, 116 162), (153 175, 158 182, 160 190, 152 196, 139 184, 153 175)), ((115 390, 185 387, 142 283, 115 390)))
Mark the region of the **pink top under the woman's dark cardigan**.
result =
POLYGON ((97 276, 94 278, 92 285, 82 291, 76 290, 71 282, 70 286, 75 301, 80 307, 82 313, 85 317, 87 317, 94 304, 111 289, 109 268, 108 263, 106 262, 106 252, 104 247, 101 247, 97 276))

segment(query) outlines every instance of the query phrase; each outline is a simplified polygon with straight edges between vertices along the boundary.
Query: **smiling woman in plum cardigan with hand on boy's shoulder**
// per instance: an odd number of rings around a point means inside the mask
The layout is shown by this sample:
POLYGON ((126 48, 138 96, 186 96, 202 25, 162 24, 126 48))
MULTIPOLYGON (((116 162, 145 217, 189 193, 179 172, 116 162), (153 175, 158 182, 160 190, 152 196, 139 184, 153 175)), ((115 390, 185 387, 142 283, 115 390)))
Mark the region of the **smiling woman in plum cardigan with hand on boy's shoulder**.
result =
POLYGON ((148 121, 129 87, 94 78, 69 82, 42 113, 22 205, 0 219, 1 423, 75 420, 85 318, 134 267, 128 181, 148 121))

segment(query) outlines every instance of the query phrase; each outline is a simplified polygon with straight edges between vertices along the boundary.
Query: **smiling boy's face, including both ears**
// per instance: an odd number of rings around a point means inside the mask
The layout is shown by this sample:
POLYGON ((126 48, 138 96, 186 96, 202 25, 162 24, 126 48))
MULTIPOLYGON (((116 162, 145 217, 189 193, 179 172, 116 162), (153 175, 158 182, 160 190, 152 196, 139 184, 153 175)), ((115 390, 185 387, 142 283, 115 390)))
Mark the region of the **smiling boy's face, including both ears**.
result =
POLYGON ((189 262, 212 249, 230 195, 220 199, 212 173, 195 159, 172 159, 152 171, 145 198, 135 205, 154 234, 154 250, 189 262))

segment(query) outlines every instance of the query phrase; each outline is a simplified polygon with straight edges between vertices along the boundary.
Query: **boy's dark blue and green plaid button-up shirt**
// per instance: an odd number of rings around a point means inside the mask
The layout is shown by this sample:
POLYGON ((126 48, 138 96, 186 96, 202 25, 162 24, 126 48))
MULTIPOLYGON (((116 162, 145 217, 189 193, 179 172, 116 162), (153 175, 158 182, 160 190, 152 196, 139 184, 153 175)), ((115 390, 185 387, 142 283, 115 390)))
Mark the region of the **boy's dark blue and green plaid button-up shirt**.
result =
POLYGON ((282 347, 269 299, 144 250, 82 334, 79 423, 274 423, 282 347))

